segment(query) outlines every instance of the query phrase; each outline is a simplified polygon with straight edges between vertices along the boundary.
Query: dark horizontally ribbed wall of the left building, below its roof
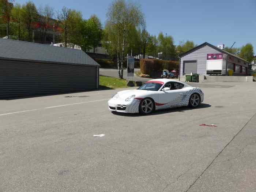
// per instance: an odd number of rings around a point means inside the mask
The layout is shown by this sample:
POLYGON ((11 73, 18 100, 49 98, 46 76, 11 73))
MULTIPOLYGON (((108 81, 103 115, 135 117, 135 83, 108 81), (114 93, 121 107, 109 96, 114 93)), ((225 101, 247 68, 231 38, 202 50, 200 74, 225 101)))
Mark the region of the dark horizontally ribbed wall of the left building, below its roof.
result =
POLYGON ((97 67, 0 59, 0 98, 97 89, 97 67))

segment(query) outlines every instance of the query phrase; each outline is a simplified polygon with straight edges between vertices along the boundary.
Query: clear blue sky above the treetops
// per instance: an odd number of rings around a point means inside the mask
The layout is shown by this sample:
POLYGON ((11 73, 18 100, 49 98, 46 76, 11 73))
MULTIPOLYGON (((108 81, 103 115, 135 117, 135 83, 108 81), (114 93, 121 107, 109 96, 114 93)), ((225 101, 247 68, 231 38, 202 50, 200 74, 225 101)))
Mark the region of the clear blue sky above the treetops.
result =
MULTIPOLYGON (((15 0, 25 3, 27 0, 15 0)), ((111 0, 33 0, 36 6, 48 4, 54 10, 63 6, 82 12, 87 19, 96 14, 104 24, 111 0)), ((192 40, 240 47, 251 43, 256 54, 256 0, 133 0, 140 3, 147 30, 172 35, 174 43, 192 40)))

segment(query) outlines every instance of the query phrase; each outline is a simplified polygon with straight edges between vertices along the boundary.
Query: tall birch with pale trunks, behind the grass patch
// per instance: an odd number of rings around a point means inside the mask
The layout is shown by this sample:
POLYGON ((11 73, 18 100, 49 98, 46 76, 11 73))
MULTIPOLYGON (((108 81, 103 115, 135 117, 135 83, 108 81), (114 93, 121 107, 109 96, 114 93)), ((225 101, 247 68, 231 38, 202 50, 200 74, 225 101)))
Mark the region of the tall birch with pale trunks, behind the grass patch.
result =
MULTIPOLYGON (((133 28, 133 26, 138 27, 143 25, 144 15, 140 10, 140 6, 133 3, 126 3, 125 0, 114 0, 108 8, 106 14, 107 22, 109 25, 109 30, 112 30, 117 35, 117 67, 118 75, 123 78, 123 61, 125 56, 125 49, 128 47, 127 35, 128 31, 133 28), (123 42, 120 43, 120 38, 123 42), (122 52, 120 53, 120 44, 122 52), (119 65, 119 57, 121 60, 121 72, 119 65)), ((111 37, 111 35, 109 36, 111 37)), ((109 39, 112 42, 112 39, 109 39)))

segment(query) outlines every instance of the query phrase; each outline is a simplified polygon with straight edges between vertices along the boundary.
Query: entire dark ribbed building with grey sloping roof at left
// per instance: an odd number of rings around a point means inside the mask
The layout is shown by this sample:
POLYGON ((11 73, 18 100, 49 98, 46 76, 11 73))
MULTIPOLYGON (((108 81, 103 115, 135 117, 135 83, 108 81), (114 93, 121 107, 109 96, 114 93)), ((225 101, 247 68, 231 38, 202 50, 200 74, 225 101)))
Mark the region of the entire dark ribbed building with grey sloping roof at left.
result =
POLYGON ((98 89, 99 66, 82 50, 0 38, 0 98, 98 89))

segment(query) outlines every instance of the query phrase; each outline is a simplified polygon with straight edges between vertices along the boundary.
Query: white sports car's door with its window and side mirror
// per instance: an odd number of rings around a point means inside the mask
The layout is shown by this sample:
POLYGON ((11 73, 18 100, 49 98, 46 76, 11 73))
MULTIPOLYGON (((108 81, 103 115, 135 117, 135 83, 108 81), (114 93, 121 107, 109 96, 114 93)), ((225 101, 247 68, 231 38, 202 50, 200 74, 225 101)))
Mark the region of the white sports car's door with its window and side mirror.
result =
POLYGON ((156 103, 156 106, 165 106, 165 108, 181 106, 182 98, 185 94, 183 89, 184 85, 178 82, 167 82, 164 87, 170 87, 170 90, 159 91, 158 103, 156 103))

